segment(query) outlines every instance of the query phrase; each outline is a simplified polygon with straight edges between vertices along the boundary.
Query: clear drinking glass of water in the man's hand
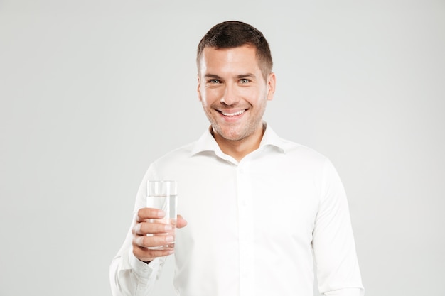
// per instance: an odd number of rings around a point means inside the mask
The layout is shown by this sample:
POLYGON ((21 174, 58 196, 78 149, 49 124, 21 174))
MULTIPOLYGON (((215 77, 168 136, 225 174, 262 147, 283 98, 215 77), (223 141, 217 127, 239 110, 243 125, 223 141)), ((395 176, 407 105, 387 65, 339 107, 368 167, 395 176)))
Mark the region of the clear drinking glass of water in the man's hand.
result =
POLYGON ((172 231, 163 234, 153 234, 156 236, 172 235, 173 242, 166 246, 149 247, 156 250, 168 250, 174 248, 176 238, 176 197, 177 197, 176 181, 149 180, 147 182, 147 207, 162 209, 166 212, 163 219, 154 219, 154 222, 171 224, 172 231))

